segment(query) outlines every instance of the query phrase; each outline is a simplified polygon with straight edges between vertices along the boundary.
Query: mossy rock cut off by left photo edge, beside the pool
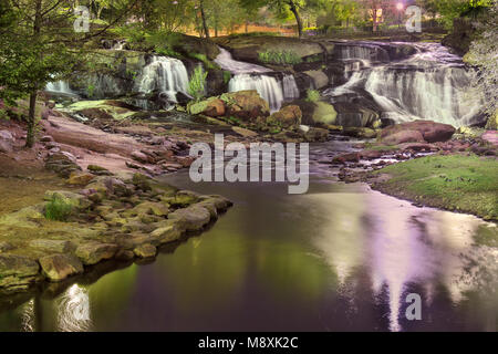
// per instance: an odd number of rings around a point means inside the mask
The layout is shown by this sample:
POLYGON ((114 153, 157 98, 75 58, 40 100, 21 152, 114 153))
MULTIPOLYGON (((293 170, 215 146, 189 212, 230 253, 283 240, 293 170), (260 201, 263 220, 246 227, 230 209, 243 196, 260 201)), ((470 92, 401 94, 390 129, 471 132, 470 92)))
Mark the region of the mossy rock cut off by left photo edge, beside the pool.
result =
POLYGON ((37 261, 28 257, 0 253, 0 288, 25 290, 35 281, 39 269, 37 261))

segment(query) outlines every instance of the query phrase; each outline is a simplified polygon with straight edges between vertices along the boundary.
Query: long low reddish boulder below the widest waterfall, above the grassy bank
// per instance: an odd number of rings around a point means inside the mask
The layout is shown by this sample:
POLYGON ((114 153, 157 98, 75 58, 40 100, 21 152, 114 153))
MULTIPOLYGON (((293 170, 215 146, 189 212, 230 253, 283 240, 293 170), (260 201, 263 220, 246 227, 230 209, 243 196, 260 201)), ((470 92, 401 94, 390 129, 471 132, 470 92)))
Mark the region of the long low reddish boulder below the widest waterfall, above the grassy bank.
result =
POLYGON ((456 129, 448 124, 432 121, 415 121, 382 129, 380 139, 386 144, 447 142, 456 129), (419 133, 419 134, 417 134, 419 133))

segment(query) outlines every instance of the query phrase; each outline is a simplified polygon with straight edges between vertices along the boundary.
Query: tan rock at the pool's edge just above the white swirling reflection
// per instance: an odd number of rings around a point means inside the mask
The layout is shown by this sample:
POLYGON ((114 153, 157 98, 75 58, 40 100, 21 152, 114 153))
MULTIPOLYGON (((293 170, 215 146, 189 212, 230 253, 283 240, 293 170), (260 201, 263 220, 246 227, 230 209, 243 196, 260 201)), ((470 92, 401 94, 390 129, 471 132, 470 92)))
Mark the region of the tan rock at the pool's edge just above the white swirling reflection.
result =
POLYGON ((52 254, 40 258, 42 273, 50 281, 61 281, 71 275, 83 273, 82 262, 74 256, 52 254))

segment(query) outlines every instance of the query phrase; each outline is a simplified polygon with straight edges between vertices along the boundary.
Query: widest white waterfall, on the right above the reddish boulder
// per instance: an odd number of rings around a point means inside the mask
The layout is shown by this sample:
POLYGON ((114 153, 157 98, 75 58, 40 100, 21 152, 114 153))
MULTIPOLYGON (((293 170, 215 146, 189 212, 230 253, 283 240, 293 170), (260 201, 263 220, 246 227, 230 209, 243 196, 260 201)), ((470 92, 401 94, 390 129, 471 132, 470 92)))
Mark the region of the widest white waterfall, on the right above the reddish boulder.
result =
MULTIPOLYGON (((359 71, 355 67, 344 85, 328 90, 324 94, 335 103, 347 101, 355 94, 364 96, 362 92, 366 91, 382 108, 382 117, 395 122, 430 119, 456 127, 475 123, 480 100, 467 93, 471 73, 460 58, 439 44, 413 45, 417 52, 408 59, 372 64, 359 71)), ((365 60, 366 56, 366 50, 340 53, 344 54, 344 60, 365 60)))

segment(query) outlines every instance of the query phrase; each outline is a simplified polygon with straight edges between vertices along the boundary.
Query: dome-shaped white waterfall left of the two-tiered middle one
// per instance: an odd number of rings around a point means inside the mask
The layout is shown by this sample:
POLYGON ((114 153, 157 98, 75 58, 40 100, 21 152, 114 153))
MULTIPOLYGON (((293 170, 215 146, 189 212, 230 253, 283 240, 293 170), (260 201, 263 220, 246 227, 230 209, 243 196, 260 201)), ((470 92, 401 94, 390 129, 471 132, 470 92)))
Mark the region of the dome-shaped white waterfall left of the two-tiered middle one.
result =
POLYGON ((187 94, 188 73, 184 63, 178 59, 153 56, 152 62, 144 67, 137 81, 137 91, 151 93, 158 90, 176 102, 176 93, 187 94))

